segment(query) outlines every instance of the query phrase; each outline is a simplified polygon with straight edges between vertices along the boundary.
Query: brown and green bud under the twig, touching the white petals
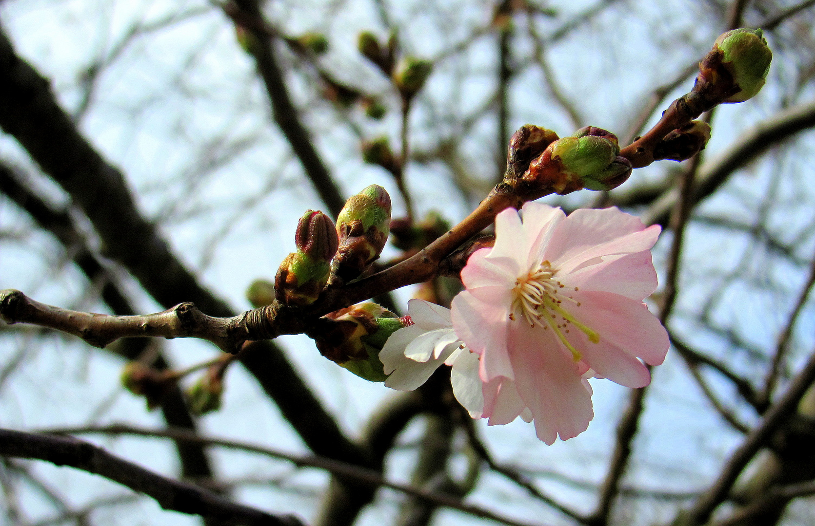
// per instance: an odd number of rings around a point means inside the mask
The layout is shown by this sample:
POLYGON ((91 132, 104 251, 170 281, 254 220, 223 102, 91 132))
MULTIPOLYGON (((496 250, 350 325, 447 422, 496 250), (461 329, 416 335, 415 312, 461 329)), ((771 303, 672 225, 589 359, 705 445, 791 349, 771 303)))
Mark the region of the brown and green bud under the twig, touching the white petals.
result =
POLYGON ((375 303, 351 305, 325 317, 326 330, 316 340, 319 352, 357 376, 384 382, 379 352, 388 337, 407 323, 375 303))

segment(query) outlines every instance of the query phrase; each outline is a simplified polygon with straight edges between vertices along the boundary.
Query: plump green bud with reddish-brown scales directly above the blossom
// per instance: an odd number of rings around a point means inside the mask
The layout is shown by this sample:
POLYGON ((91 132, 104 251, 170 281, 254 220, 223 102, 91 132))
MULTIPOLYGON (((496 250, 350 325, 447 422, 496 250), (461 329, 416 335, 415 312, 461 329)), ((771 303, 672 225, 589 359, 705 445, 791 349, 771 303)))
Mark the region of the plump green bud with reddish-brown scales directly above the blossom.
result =
POLYGON ((628 159, 619 156, 615 134, 586 126, 549 144, 523 179, 565 195, 581 188, 611 190, 625 182, 631 171, 628 159))

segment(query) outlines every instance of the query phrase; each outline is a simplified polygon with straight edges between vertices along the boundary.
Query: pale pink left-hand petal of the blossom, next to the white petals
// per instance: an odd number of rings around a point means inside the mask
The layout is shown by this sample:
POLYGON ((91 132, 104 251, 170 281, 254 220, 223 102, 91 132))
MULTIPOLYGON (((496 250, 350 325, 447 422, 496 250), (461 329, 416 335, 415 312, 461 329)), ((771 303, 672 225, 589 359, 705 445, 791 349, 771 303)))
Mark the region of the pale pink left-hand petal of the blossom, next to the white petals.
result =
POLYGON ((481 355, 481 379, 512 378, 507 353, 509 303, 486 303, 469 291, 461 291, 453 298, 451 314, 456 334, 481 355))

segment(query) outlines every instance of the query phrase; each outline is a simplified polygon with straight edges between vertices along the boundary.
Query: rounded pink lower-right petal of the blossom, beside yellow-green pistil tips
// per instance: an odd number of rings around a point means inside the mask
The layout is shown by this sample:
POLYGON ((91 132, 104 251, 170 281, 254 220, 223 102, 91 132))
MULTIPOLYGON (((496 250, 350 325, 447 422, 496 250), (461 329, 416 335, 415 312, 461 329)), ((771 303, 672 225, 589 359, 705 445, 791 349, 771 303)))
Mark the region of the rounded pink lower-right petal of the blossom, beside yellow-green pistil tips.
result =
MULTIPOLYGON (((564 301, 563 308, 596 331, 601 342, 606 341, 631 356, 641 357, 652 366, 658 366, 665 360, 670 345, 667 331, 644 303, 599 291, 581 290, 575 292, 574 297, 579 300, 580 306, 566 305, 564 301)), ((600 370, 597 372, 602 374, 600 370)))

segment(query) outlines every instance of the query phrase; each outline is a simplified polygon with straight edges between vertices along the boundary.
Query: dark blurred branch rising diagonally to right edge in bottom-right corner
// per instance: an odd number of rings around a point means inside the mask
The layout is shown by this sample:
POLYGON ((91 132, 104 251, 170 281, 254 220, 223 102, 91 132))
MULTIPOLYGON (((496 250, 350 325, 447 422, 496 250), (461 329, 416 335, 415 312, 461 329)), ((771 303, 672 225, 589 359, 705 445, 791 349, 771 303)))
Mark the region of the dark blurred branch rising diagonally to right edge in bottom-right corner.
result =
POLYGON ((683 514, 682 526, 701 526, 707 523, 716 507, 725 502, 739 474, 747 466, 747 462, 750 462, 758 450, 764 447, 773 436, 773 433, 795 412, 801 397, 813 384, 813 380, 815 380, 815 352, 810 355, 804 368, 792 379, 782 397, 778 398, 778 401, 764 413, 761 423, 751 430, 742 445, 738 446, 738 449, 730 456, 716 481, 698 498, 694 506, 683 514))

